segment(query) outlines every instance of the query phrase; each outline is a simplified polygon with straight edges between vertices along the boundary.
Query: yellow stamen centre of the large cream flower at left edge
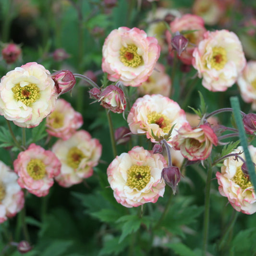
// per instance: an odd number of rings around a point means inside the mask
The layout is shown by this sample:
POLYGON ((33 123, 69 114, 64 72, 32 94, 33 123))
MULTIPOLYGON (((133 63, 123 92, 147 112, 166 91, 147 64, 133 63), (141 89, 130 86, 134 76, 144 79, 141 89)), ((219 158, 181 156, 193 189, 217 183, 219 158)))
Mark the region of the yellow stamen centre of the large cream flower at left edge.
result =
POLYGON ((35 84, 29 84, 23 87, 15 85, 12 87, 12 92, 14 98, 22 101, 26 106, 29 106, 39 98, 39 88, 35 84))

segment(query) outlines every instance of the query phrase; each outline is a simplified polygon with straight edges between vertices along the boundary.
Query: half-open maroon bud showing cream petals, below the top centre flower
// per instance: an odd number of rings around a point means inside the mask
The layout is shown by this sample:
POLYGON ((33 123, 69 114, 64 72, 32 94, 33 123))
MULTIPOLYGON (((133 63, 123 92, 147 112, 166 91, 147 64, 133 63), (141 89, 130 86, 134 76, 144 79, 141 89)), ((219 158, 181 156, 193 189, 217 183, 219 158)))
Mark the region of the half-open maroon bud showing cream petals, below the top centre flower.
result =
POLYGON ((100 105, 114 113, 122 113, 126 107, 123 91, 116 85, 107 86, 99 96, 100 105))

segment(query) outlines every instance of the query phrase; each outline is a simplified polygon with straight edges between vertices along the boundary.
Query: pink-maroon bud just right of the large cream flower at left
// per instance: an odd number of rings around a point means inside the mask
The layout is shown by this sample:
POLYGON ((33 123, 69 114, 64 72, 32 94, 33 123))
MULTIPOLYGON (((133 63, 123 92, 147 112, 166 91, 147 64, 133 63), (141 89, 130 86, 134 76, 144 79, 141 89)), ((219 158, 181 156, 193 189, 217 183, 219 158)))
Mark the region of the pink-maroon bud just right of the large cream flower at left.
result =
POLYGON ((74 87, 76 80, 69 70, 61 70, 51 74, 59 95, 66 93, 74 87))

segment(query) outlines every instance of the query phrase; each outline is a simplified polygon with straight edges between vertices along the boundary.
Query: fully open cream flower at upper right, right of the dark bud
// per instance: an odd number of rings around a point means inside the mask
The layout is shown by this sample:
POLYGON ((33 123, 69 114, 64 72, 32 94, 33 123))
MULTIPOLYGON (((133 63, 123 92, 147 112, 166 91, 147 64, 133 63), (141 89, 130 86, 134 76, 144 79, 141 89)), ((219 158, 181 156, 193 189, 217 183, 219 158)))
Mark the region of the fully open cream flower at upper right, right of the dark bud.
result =
POLYGON ((209 91, 226 91, 237 80, 246 60, 239 38, 228 30, 207 31, 195 48, 193 66, 209 91))

